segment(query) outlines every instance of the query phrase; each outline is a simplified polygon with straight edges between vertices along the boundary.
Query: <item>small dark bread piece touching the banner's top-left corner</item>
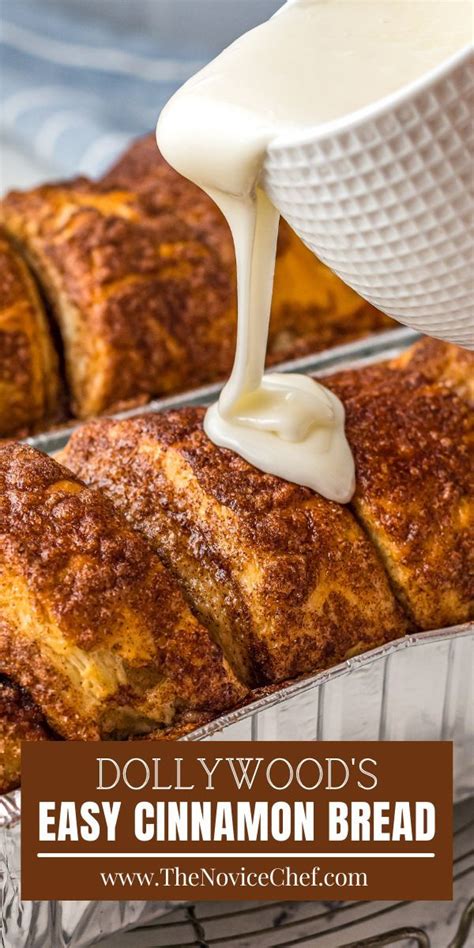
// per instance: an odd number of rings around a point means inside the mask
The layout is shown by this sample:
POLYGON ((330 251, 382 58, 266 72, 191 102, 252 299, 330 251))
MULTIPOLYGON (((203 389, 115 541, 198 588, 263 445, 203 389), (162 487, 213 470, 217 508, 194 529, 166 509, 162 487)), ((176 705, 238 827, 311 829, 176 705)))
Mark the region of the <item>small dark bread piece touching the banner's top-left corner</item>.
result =
POLYGON ((50 741, 48 728, 30 696, 0 675, 0 795, 20 786, 22 741, 50 741))

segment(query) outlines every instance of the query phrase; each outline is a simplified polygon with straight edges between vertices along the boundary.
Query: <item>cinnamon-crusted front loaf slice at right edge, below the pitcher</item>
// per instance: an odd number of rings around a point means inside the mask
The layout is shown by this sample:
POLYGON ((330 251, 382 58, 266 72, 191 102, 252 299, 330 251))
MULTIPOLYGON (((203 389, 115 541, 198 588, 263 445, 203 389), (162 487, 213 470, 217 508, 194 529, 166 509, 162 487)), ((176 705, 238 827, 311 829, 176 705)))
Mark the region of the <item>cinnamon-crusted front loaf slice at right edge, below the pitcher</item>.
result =
POLYGON ((474 610, 474 356, 435 340, 325 379, 346 406, 354 506, 422 629, 474 610))

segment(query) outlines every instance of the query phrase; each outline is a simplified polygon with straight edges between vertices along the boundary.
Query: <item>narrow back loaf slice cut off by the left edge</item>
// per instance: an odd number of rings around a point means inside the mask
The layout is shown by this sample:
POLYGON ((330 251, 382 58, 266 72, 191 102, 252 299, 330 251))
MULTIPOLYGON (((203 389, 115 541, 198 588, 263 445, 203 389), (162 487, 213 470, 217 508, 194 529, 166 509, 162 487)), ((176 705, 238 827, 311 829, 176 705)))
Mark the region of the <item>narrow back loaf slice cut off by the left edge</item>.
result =
POLYGON ((58 359, 28 269, 0 229, 0 437, 60 413, 58 359))

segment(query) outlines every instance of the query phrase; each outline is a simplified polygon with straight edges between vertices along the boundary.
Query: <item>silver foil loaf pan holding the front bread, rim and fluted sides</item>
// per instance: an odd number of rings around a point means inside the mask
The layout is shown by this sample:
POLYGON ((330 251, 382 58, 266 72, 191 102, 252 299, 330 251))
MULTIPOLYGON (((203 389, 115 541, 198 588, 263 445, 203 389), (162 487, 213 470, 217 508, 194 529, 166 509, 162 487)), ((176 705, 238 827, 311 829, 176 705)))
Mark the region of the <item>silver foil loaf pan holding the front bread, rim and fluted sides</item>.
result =
MULTIPOLYGON (((286 371, 320 376, 381 361, 416 335, 395 330, 307 359, 286 371)), ((161 399, 122 413, 164 411, 215 399, 220 386, 161 399)), ((28 439, 53 453, 73 426, 28 439)), ((452 740, 455 799, 474 790, 474 624, 407 636, 232 711, 185 740, 452 740)), ((20 793, 0 797, 0 928, 2 948, 87 948, 102 939, 149 926, 169 911, 166 902, 21 902, 20 793)), ((110 942, 109 942, 110 943, 110 942)))

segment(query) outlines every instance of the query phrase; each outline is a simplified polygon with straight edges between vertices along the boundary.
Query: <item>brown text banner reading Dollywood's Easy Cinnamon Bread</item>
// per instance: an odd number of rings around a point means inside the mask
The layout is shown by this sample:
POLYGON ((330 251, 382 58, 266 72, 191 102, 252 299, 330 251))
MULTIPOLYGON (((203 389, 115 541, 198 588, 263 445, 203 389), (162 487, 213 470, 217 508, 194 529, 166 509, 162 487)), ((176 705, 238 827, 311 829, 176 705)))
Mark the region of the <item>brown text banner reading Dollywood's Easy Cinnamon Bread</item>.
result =
POLYGON ((449 899, 447 742, 27 743, 23 899, 449 899))

